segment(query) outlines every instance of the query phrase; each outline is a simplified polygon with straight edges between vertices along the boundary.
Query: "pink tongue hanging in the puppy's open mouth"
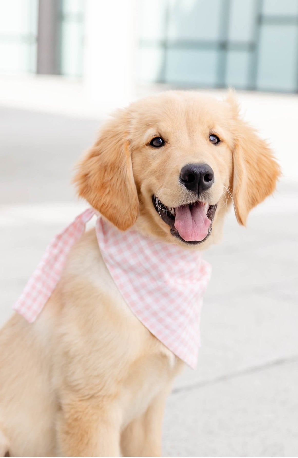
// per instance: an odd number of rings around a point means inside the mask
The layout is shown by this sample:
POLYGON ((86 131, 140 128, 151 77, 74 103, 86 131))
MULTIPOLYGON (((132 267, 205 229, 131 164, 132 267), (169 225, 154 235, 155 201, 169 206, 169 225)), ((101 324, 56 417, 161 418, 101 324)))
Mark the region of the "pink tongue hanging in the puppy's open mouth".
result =
POLYGON ((176 207, 175 212, 175 228, 178 230, 180 237, 187 242, 205 239, 211 221, 207 218, 203 203, 197 202, 191 207, 188 205, 176 207))

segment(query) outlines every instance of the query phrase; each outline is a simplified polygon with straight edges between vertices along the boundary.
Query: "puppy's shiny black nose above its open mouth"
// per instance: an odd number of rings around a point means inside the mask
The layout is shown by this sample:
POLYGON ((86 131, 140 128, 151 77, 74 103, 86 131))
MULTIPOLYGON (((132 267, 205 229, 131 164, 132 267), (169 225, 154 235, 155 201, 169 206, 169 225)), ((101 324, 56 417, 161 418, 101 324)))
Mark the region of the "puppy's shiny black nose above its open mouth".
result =
POLYGON ((199 196, 200 192, 211 188, 214 173, 208 164, 186 164, 181 169, 180 181, 186 189, 194 191, 199 196))

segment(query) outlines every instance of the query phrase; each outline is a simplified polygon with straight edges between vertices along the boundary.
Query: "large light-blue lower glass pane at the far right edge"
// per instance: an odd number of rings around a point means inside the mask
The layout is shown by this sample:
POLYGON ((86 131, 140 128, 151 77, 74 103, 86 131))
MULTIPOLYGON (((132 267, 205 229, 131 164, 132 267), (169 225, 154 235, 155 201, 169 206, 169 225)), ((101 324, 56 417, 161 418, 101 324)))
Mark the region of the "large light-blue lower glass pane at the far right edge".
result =
POLYGON ((260 34, 257 87, 297 90, 298 27, 263 25, 260 34))

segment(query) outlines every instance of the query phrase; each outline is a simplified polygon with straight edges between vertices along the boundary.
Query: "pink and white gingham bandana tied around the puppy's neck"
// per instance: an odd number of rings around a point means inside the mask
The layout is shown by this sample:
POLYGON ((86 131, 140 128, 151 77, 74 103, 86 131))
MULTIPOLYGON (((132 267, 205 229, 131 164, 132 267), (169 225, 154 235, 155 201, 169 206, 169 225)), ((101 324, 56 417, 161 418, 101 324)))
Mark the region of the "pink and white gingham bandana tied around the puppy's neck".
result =
MULTIPOLYGON (((14 305, 34 322, 59 282, 71 247, 85 231, 93 209, 81 213, 48 246, 14 305)), ((98 216, 96 235, 103 260, 130 310, 168 349, 195 368, 200 346, 200 309, 211 267, 189 251, 120 231, 98 216)))

